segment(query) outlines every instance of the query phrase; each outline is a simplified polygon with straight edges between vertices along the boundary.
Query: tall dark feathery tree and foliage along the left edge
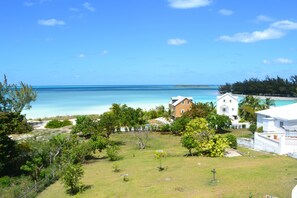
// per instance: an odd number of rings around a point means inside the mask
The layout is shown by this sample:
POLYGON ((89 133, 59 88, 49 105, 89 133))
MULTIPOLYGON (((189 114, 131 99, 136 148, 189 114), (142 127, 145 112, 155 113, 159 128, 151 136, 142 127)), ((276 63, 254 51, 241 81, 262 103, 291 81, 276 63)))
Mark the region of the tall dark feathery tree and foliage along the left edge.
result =
POLYGON ((32 130, 21 112, 30 109, 30 103, 35 99, 36 92, 23 82, 9 84, 6 76, 0 82, 0 177, 19 172, 21 148, 8 135, 32 130))

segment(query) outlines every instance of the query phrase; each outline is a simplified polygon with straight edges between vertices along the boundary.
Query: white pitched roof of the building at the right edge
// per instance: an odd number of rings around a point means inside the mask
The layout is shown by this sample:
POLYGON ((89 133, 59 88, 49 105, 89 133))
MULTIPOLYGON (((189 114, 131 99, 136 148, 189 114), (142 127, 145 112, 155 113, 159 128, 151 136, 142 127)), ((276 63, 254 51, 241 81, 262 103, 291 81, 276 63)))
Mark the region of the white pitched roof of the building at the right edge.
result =
POLYGON ((297 120, 297 103, 257 111, 256 114, 281 120, 297 120))

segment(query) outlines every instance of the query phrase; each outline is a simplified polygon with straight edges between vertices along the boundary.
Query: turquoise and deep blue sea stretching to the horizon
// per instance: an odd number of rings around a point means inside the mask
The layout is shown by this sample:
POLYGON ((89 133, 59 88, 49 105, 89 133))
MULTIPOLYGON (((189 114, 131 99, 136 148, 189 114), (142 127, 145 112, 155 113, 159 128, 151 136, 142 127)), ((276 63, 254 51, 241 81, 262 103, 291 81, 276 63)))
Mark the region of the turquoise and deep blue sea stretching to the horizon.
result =
MULTIPOLYGON (((67 115, 101 114, 113 103, 127 104, 145 110, 164 105, 171 97, 193 97, 194 102, 215 102, 218 85, 71 85, 33 86, 37 92, 32 108, 25 110, 27 118, 67 115)), ((241 97, 239 97, 241 99, 241 97)), ((276 106, 297 102, 277 100, 276 106)))

